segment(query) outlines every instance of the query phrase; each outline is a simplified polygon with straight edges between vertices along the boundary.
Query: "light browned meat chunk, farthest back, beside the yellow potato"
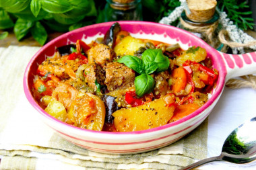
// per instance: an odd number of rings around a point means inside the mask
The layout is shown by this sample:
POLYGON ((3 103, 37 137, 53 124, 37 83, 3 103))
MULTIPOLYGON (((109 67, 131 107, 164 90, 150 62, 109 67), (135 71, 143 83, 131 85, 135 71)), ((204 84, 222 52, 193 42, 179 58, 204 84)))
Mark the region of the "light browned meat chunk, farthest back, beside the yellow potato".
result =
POLYGON ((97 44, 88 50, 88 62, 96 62, 101 67, 104 67, 108 62, 112 62, 115 56, 114 50, 104 44, 97 44))

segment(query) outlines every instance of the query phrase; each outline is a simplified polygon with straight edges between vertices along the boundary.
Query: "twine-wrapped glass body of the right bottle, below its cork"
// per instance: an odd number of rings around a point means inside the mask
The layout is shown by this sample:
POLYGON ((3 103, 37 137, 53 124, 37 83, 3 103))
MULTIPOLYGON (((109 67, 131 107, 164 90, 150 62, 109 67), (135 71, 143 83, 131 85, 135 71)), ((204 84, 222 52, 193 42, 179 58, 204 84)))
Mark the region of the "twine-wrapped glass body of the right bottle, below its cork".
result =
POLYGON ((224 45, 218 39, 218 33, 221 30, 221 25, 218 22, 219 18, 220 16, 215 12, 213 17, 206 22, 193 22, 183 11, 178 27, 195 34, 216 50, 222 51, 224 45))

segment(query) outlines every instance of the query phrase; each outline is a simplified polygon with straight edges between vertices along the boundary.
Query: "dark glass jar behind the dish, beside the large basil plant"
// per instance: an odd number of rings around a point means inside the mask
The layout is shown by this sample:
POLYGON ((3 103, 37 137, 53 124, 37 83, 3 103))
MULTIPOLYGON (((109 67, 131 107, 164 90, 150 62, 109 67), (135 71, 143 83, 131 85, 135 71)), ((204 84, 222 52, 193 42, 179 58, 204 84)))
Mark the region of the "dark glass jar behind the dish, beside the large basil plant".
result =
POLYGON ((119 3, 115 0, 106 0, 104 8, 105 22, 121 20, 142 20, 141 0, 119 3))

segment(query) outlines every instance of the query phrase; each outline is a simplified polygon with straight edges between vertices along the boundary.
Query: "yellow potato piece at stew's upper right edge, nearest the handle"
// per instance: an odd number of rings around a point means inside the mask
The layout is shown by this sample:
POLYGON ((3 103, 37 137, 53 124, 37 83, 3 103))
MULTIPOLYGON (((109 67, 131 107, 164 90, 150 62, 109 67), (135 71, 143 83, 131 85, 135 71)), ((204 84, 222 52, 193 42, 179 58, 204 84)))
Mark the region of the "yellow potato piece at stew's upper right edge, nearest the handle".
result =
POLYGON ((186 60, 201 62, 206 58, 206 55, 207 52, 204 48, 192 46, 187 51, 183 52, 183 54, 178 56, 175 61, 177 65, 182 66, 183 62, 186 60))

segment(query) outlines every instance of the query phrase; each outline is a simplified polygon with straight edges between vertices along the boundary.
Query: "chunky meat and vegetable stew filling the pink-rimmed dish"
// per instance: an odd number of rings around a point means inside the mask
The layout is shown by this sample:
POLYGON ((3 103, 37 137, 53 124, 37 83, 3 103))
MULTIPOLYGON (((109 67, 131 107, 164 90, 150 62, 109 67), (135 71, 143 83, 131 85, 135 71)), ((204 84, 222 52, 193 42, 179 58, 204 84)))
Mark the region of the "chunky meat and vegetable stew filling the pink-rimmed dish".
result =
POLYGON ((115 23, 104 38, 57 48, 38 65, 32 91, 40 107, 67 124, 129 132, 191 114, 217 79, 204 48, 134 38, 115 23))

